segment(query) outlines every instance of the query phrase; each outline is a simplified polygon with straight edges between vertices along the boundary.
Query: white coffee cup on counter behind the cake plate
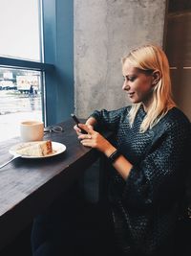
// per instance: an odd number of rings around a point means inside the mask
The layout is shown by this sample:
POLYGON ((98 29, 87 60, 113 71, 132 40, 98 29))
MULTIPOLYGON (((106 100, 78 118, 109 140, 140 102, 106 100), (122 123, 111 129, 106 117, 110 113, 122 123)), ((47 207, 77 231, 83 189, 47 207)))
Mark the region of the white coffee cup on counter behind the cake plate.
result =
POLYGON ((44 136, 44 123, 41 121, 24 121, 20 124, 22 141, 40 141, 44 136))

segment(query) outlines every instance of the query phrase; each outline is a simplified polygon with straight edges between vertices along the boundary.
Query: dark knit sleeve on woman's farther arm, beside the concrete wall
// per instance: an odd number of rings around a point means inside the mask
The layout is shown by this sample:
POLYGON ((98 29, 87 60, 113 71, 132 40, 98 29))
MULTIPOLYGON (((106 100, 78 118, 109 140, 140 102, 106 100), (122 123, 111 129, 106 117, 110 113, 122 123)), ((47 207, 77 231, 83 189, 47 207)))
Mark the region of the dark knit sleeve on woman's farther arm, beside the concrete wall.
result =
POLYGON ((98 128, 106 128, 115 131, 117 130, 119 123, 121 123, 121 119, 123 119, 126 116, 126 113, 128 113, 128 109, 129 107, 125 106, 111 111, 106 109, 102 109, 100 111, 95 110, 91 117, 96 119, 98 128))

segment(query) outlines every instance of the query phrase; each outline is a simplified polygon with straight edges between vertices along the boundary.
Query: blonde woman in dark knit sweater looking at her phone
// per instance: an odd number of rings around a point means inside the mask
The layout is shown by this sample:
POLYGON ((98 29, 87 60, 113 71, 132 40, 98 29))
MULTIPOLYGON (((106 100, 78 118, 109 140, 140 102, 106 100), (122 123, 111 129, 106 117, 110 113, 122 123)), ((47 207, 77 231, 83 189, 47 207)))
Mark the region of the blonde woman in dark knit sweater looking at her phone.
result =
POLYGON ((172 100, 168 60, 158 46, 145 45, 122 58, 122 74, 122 89, 132 105, 96 110, 74 129, 84 146, 101 151, 113 166, 108 199, 116 255, 170 255, 187 173, 190 123, 172 100), (95 127, 112 130, 113 143, 95 127))

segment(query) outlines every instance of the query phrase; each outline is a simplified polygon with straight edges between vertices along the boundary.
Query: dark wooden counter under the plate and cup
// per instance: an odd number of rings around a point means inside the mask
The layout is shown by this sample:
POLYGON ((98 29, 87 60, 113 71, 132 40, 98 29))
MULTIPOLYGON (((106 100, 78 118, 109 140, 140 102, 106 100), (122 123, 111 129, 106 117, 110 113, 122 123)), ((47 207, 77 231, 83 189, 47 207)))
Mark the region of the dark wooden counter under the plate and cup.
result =
MULTIPOLYGON (((64 144, 66 151, 48 158, 17 158, 0 169, 0 249, 99 157, 96 150, 80 144, 73 120, 58 125, 64 131, 45 134, 44 139, 64 144)), ((11 158, 9 150, 19 142, 13 138, 0 143, 0 164, 11 158)))

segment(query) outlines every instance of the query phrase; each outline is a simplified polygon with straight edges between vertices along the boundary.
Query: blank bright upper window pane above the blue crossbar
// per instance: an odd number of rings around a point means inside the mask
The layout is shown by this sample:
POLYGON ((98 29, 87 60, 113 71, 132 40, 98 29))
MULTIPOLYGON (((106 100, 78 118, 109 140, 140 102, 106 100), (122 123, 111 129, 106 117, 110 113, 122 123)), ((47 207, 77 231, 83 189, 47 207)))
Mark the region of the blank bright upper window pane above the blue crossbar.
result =
POLYGON ((40 60, 39 0, 0 0, 0 56, 40 60))

